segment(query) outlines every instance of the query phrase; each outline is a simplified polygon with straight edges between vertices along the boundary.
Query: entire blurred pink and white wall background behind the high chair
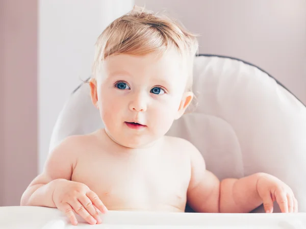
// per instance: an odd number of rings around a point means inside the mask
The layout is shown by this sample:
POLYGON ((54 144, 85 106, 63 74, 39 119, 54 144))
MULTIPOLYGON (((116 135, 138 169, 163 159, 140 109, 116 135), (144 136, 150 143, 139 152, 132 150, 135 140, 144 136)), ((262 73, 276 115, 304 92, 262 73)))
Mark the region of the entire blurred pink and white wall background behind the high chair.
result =
POLYGON ((0 206, 42 171, 57 116, 91 73, 97 36, 134 4, 200 34, 199 53, 255 64, 306 104, 305 0, 1 0, 0 206))

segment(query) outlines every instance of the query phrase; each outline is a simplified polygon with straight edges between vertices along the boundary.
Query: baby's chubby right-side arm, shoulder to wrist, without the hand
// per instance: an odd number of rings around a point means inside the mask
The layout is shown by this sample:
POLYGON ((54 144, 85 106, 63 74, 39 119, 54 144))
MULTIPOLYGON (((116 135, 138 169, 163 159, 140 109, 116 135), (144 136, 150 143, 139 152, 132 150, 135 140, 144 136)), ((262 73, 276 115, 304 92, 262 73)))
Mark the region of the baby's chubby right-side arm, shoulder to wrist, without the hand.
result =
POLYGON ((187 199, 194 211, 247 213, 263 203, 257 192, 260 174, 220 182, 206 170, 205 161, 194 146, 190 153, 192 172, 187 199))

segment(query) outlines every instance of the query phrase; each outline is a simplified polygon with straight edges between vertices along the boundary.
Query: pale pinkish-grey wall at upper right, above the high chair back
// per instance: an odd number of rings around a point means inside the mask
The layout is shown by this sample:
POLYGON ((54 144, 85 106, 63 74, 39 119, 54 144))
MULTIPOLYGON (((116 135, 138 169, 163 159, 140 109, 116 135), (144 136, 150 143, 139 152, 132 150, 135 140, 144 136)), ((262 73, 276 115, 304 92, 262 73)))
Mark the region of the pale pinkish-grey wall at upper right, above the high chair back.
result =
POLYGON ((305 0, 135 0, 135 4, 166 9, 200 34, 200 53, 256 64, 306 104, 305 0))

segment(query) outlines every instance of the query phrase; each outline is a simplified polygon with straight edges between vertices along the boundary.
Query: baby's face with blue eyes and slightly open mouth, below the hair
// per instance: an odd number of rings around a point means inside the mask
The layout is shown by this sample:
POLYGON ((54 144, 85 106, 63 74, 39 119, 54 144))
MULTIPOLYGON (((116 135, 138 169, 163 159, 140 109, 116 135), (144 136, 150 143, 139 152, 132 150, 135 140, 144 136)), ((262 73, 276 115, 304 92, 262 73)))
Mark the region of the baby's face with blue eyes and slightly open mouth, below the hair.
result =
POLYGON ((175 50, 162 56, 110 56, 96 79, 93 102, 115 142, 145 147, 165 135, 187 108, 192 93, 185 92, 186 82, 175 50))

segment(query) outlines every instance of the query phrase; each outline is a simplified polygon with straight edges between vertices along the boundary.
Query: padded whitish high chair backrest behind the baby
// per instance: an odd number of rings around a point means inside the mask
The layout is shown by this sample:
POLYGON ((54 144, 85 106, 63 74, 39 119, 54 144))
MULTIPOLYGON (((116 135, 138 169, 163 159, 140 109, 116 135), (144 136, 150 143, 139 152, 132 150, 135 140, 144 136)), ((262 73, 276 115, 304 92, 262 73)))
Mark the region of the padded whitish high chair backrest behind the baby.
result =
MULTIPOLYGON (((193 90, 196 109, 175 121, 168 135, 192 142, 219 179, 256 172, 278 177, 292 188, 299 212, 306 212, 306 107, 263 70, 227 57, 196 57, 193 90)), ((60 113, 50 150, 69 135, 103 126, 83 84, 60 113)), ((280 212, 276 202, 274 212, 280 212)))

